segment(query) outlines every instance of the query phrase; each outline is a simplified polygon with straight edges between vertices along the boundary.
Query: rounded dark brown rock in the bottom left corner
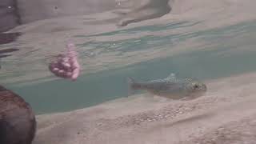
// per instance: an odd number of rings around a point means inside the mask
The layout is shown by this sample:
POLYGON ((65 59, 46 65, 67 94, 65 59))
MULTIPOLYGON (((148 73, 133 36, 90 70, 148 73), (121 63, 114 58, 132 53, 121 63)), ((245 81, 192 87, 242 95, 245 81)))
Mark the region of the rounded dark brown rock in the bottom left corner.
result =
POLYGON ((0 143, 31 144, 35 131, 36 120, 30 105, 0 86, 0 143))

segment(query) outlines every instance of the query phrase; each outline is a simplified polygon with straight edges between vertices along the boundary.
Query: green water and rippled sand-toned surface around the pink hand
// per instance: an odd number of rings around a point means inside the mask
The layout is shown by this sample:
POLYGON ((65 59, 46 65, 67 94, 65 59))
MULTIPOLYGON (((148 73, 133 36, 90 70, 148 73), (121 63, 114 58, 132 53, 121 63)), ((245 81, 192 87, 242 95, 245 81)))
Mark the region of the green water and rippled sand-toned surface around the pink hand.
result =
POLYGON ((115 16, 109 12, 18 26, 10 31, 23 35, 0 46, 20 49, 2 58, 2 84, 43 114, 126 97, 127 77, 148 80, 175 73, 207 82, 255 71, 256 17, 243 17, 253 9, 235 9, 239 2, 232 2, 221 10, 195 6, 190 14, 170 13, 122 28, 110 21, 115 16), (195 18, 201 9, 205 14, 195 18), (78 47, 83 70, 76 82, 54 78, 47 70, 50 56, 65 50, 66 42, 78 47))

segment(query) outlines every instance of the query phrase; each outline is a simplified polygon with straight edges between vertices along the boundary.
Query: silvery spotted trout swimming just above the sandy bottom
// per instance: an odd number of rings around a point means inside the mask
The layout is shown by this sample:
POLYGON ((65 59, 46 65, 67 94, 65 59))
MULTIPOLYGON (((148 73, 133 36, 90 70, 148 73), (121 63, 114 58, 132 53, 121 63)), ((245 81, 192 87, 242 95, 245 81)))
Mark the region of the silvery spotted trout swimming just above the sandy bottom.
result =
POLYGON ((207 87, 202 82, 192 78, 177 78, 170 74, 167 78, 148 82, 135 82, 128 78, 131 90, 147 90, 151 94, 171 98, 190 100, 202 96, 207 87))

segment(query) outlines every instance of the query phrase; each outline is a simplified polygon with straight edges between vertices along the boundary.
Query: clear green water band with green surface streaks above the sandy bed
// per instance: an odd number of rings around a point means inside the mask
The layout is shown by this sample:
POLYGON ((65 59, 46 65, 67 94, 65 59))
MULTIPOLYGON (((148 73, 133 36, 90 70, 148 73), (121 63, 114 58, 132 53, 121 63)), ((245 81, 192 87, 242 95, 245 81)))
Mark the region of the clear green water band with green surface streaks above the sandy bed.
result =
MULTIPOLYGON (((172 22, 170 24, 138 26, 126 30, 115 30, 102 34, 74 35, 74 38, 103 38, 118 34, 139 34, 148 32, 138 38, 104 42, 77 43, 80 58, 86 61, 86 54, 97 51, 97 54, 112 54, 122 57, 129 52, 143 50, 142 54, 156 48, 171 50, 181 47, 181 43, 196 39, 201 45, 191 45, 194 50, 183 50, 182 53, 165 54, 129 66, 111 67, 95 73, 83 73, 77 82, 62 79, 50 82, 38 82, 33 85, 7 87, 26 98, 37 114, 75 110, 94 106, 114 98, 126 97, 128 94, 127 77, 138 80, 165 78, 170 73, 184 77, 200 78, 204 81, 213 78, 224 78, 232 74, 242 74, 256 70, 256 22, 239 22, 232 26, 222 26, 209 30, 194 30, 179 34, 171 33, 177 28, 190 28, 200 22, 172 22), (156 35, 161 31, 169 34, 156 35), (114 46, 113 46, 114 43, 114 46), (199 47, 198 47, 199 46, 199 47), (83 50, 82 47, 90 47, 83 50)), ((190 46, 188 46, 190 47, 190 46)), ((139 57, 139 56, 138 56, 139 57)), ((129 57, 124 57, 129 58, 129 57)), ((86 65, 83 66, 86 69, 86 65)), ((53 76, 47 78, 54 78, 53 76)), ((43 79, 43 78, 42 78, 43 79)), ((38 81, 40 81, 39 79, 38 81)))

